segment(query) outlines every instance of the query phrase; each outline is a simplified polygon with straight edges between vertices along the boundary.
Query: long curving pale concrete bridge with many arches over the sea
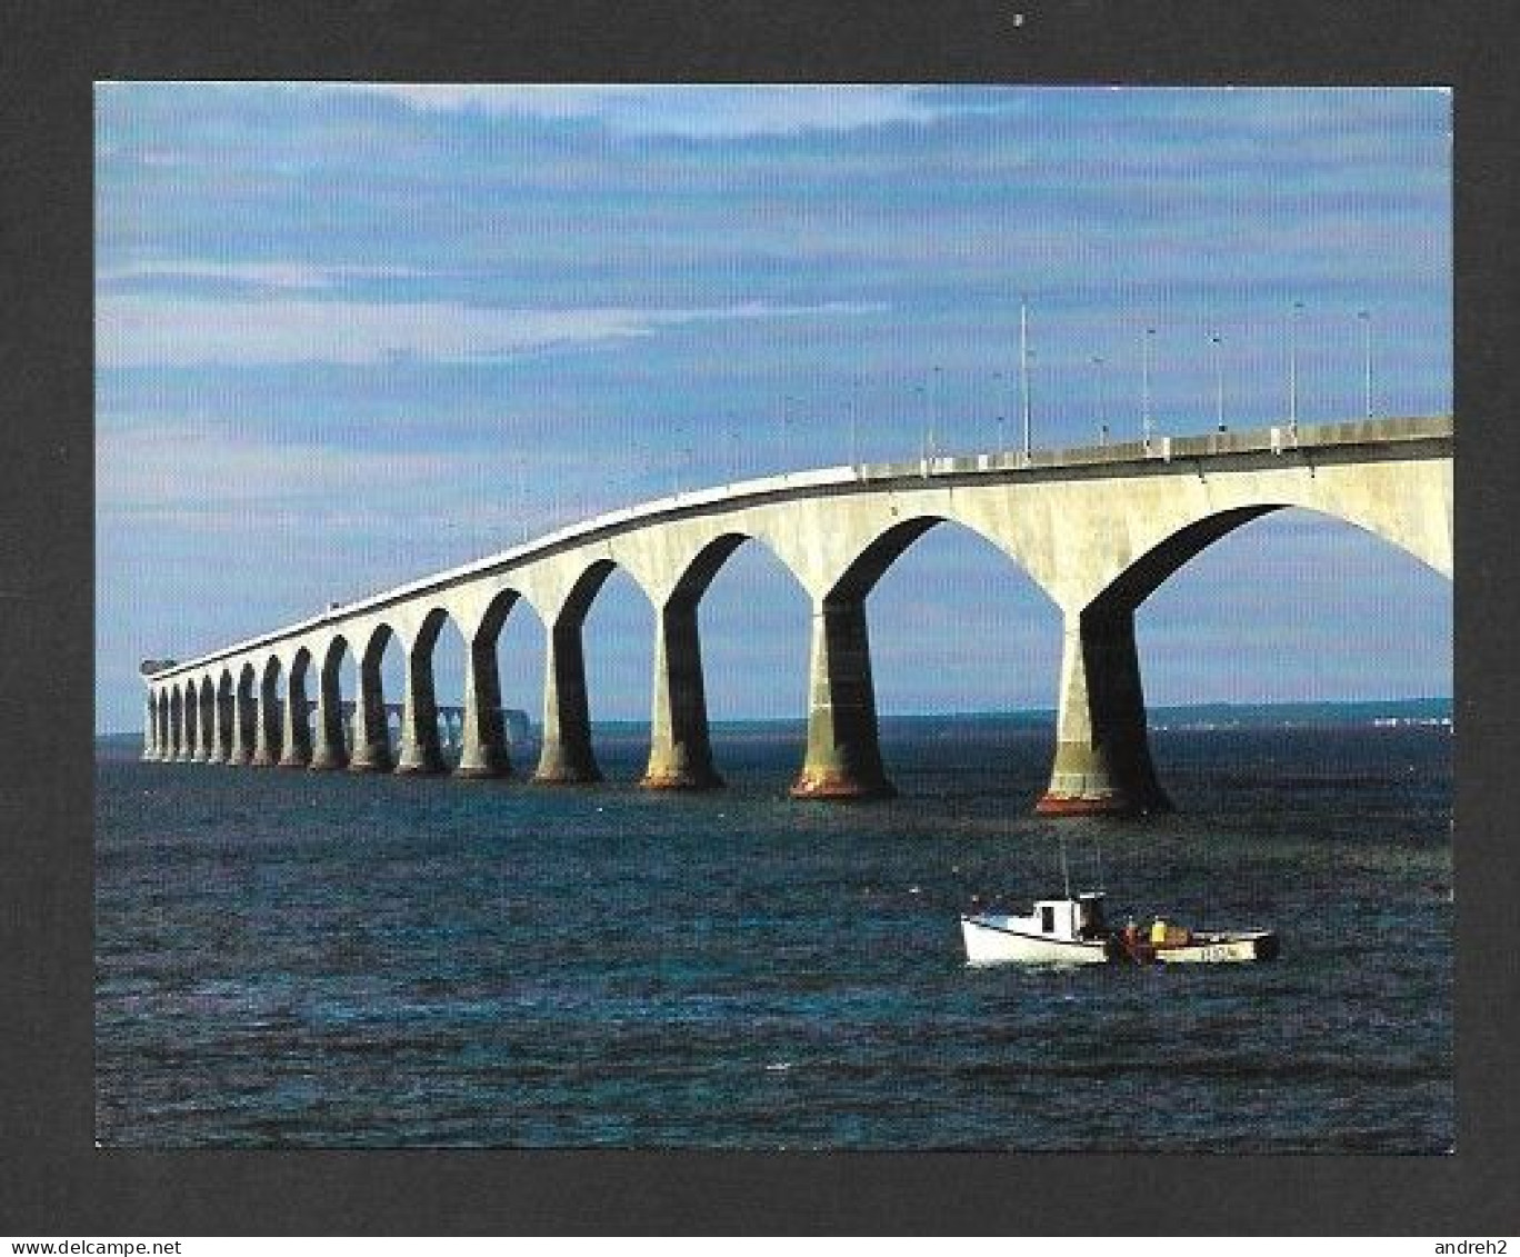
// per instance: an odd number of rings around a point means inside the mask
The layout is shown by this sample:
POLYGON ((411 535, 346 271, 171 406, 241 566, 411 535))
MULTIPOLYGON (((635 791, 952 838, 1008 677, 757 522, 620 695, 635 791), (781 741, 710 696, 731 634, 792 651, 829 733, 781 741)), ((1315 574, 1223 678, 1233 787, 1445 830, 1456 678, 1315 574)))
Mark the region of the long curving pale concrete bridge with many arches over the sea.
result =
POLYGON ((956 521, 1008 555, 1062 614, 1056 752, 1038 810, 1160 810, 1169 804, 1146 739, 1135 610, 1202 549, 1284 508, 1362 527, 1450 579, 1452 444, 1449 416, 1353 421, 859 464, 678 494, 187 663, 155 661, 146 675, 144 758, 444 772, 433 646, 453 620, 467 643, 453 771, 503 775, 496 647, 508 616, 526 602, 547 638, 534 780, 599 780, 581 628, 608 575, 622 567, 655 608, 643 784, 719 786, 698 605, 730 555, 755 543, 786 565, 813 606, 807 752, 792 793, 891 793, 877 742, 866 596, 914 541, 956 521), (392 637, 406 661, 397 754, 380 669, 392 637), (350 657, 357 685, 345 737, 340 675, 350 657))

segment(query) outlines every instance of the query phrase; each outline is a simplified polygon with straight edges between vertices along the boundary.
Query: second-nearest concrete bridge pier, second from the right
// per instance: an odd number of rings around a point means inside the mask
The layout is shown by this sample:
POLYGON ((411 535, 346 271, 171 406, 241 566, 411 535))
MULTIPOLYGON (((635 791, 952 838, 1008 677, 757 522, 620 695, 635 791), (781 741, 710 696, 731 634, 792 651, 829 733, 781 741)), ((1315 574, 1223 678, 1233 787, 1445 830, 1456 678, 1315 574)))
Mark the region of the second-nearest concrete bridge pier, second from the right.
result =
POLYGON ((831 596, 816 602, 812 637, 807 758, 792 796, 865 799, 895 795, 882 766, 865 596, 831 596))

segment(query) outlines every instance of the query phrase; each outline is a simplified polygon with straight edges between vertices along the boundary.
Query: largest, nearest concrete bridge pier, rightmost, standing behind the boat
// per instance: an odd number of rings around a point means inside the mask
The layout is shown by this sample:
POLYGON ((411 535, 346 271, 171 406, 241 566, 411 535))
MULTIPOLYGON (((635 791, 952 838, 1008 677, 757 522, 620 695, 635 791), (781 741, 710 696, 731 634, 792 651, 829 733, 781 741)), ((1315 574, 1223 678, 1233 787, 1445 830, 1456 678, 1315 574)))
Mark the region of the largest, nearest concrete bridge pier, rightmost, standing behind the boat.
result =
POLYGON ((1169 812, 1151 763, 1132 606, 1067 613, 1061 710, 1041 816, 1134 816, 1169 812))

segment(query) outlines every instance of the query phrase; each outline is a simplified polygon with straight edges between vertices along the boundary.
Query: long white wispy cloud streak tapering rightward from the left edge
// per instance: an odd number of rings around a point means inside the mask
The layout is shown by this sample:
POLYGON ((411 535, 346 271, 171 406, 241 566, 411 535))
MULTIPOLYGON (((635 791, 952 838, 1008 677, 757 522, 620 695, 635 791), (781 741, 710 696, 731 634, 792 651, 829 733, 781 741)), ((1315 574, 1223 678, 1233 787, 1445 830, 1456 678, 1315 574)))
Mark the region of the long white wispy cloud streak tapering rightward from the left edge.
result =
POLYGON ((842 316, 876 309, 880 307, 851 302, 739 302, 692 310, 503 310, 454 302, 103 296, 96 306, 96 363, 112 368, 479 362, 651 336, 684 324, 842 316))

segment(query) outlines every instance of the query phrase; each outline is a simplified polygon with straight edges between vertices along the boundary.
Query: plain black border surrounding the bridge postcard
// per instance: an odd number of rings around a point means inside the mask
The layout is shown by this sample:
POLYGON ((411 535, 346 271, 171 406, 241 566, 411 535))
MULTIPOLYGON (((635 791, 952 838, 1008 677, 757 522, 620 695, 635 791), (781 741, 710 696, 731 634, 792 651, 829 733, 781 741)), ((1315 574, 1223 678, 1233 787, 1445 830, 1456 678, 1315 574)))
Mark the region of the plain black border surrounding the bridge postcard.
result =
POLYGON ((0 38, 0 1234, 1515 1234, 1509 17, 1303 0, 14 3, 0 38), (1459 1137, 1449 1157, 93 1148, 97 79, 1452 85, 1459 1137))

